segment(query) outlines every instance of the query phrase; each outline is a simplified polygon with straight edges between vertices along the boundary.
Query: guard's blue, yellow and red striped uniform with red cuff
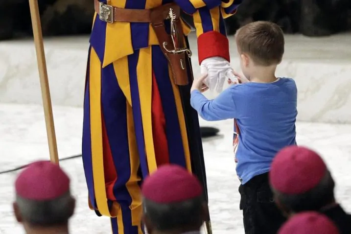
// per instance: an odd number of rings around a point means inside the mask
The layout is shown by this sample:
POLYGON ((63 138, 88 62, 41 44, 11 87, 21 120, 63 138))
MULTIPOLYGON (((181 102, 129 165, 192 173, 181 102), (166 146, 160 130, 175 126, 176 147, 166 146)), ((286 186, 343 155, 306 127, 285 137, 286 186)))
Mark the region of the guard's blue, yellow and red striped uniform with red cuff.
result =
MULTIPOLYGON (((101 0, 130 9, 171 1, 101 0)), ((229 60, 223 18, 238 1, 175 0, 193 15, 200 63, 212 56, 229 60)), ((95 14, 90 45, 82 147, 90 207, 111 217, 114 234, 141 234, 142 178, 161 164, 191 171, 180 93, 149 23, 106 23, 95 14)), ((198 131, 195 112, 192 118, 198 131)))

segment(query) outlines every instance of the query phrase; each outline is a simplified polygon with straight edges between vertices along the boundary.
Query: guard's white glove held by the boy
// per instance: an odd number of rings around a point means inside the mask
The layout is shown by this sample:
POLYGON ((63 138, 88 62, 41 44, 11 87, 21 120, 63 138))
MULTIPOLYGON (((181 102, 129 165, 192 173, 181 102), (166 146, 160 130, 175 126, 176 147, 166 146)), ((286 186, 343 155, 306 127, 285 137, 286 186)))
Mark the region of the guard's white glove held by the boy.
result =
POLYGON ((221 93, 224 82, 231 80, 238 83, 238 79, 233 74, 231 64, 222 57, 211 57, 202 61, 200 65, 201 74, 208 74, 204 83, 211 91, 221 93))

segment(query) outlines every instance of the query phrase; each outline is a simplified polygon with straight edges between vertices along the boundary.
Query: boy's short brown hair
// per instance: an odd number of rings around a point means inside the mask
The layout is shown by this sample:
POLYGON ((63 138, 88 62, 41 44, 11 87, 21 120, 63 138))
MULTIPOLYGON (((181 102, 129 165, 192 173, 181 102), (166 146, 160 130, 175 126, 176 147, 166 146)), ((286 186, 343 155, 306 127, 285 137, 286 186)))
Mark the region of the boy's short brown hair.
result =
POLYGON ((284 34, 276 23, 248 23, 237 30, 235 40, 239 53, 248 54, 256 65, 271 66, 281 62, 284 34))

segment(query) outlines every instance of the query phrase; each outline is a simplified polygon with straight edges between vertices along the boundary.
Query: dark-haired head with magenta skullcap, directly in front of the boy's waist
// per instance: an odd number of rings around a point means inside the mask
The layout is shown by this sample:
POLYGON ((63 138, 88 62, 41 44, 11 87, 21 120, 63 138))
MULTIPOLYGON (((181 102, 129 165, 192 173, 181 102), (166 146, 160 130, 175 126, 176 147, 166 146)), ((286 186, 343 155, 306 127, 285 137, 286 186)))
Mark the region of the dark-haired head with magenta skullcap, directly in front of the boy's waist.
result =
POLYGON ((334 180, 314 151, 288 146, 274 158, 269 174, 275 201, 286 214, 319 211, 335 203, 334 180))

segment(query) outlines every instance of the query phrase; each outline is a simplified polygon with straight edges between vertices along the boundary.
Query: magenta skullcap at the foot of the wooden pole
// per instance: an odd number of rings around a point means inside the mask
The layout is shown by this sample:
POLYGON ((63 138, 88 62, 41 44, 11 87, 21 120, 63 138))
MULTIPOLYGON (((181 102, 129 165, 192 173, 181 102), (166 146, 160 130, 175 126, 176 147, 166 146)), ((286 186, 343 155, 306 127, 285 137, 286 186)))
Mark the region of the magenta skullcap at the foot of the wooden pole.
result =
POLYGON ((36 201, 53 200, 70 190, 70 178, 49 161, 29 164, 17 177, 16 194, 36 201))

